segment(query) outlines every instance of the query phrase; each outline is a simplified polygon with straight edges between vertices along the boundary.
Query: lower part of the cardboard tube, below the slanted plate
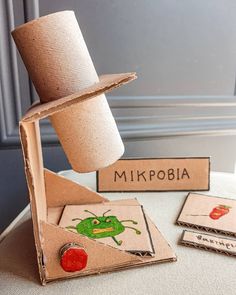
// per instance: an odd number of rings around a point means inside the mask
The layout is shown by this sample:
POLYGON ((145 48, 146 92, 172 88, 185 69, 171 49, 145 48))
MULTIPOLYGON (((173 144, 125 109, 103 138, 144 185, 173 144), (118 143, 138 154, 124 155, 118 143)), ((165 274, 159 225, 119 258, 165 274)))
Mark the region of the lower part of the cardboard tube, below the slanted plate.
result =
POLYGON ((51 122, 75 171, 89 172, 109 166, 124 152, 104 95, 54 114, 51 122))

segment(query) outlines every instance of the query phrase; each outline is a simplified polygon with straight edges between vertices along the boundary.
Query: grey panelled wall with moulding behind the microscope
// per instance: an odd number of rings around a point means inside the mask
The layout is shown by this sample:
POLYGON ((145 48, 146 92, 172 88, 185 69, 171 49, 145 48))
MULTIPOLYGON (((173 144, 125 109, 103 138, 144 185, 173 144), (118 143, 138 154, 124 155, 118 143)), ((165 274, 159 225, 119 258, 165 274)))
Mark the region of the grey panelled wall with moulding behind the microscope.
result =
MULTIPOLYGON (((27 204, 18 120, 37 99, 9 32, 73 9, 98 73, 137 71, 109 94, 125 156, 212 156, 234 171, 236 2, 233 0, 0 0, 0 231, 27 204)), ((45 166, 68 169, 48 121, 45 166)))

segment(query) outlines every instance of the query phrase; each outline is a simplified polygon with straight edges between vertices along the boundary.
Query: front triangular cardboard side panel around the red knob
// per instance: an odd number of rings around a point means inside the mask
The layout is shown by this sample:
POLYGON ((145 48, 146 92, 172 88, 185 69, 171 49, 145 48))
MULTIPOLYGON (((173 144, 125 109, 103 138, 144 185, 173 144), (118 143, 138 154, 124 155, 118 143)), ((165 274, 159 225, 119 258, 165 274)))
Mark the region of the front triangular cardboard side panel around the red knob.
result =
POLYGON ((45 275, 47 281, 100 273, 106 269, 112 270, 116 267, 127 266, 140 261, 140 258, 136 255, 127 254, 125 251, 117 250, 83 235, 68 232, 48 223, 42 223, 42 234, 44 236, 43 251, 46 257, 45 275), (60 266, 59 250, 68 241, 83 245, 88 254, 88 265, 80 272, 68 273, 60 266))

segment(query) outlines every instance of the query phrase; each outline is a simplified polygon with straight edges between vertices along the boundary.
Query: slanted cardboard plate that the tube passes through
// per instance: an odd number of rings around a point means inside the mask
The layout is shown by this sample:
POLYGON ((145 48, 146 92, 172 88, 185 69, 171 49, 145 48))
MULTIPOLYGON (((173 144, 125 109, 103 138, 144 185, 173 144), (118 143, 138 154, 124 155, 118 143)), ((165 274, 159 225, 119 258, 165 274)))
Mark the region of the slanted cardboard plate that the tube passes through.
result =
POLYGON ((110 74, 102 75, 99 77, 99 82, 87 87, 75 94, 48 102, 44 104, 35 104, 22 118, 23 122, 32 122, 37 119, 43 119, 51 116, 57 112, 65 110, 75 103, 81 103, 86 99, 90 99, 99 96, 102 93, 111 91, 117 87, 120 87, 126 83, 136 79, 136 73, 122 73, 122 74, 110 74))

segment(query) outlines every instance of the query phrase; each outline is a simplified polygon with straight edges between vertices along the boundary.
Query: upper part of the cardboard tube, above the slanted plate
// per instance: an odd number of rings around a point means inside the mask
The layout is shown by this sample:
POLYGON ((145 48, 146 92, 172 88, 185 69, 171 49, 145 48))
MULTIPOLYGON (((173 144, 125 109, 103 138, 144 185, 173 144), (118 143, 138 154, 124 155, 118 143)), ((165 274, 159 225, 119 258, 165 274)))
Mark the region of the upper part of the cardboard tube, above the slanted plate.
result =
POLYGON ((40 17, 12 35, 41 102, 98 83, 98 76, 73 11, 40 17))

